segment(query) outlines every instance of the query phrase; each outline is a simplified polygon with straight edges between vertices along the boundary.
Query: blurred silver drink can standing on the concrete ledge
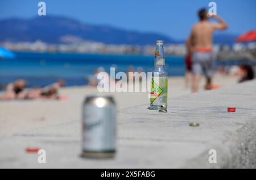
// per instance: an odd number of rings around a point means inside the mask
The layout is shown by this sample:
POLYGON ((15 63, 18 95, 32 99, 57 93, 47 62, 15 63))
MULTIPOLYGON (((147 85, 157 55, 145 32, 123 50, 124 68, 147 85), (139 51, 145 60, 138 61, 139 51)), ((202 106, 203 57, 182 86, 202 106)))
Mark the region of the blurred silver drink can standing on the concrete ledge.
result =
POLYGON ((114 99, 87 97, 82 107, 82 157, 113 157, 115 127, 114 99))

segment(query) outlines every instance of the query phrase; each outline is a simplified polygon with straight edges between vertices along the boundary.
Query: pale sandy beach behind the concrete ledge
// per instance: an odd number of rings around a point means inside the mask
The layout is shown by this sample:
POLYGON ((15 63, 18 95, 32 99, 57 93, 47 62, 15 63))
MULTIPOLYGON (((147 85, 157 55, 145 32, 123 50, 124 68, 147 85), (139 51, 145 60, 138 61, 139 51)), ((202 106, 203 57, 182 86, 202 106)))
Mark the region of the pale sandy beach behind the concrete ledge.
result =
MULTIPOLYGON (((213 83, 222 86, 232 86, 237 83, 236 77, 217 74, 213 83)), ((204 80, 200 84, 203 91, 204 80)), ((214 90, 213 90, 214 91, 214 90)), ((0 101, 0 137, 13 136, 16 133, 31 131, 32 129, 51 127, 52 125, 81 120, 82 102, 87 95, 99 94, 97 87, 72 86, 60 90, 65 100, 31 100, 31 101, 0 101)), ((117 110, 145 105, 149 106, 148 93, 103 93, 112 95, 117 103, 117 110)), ((168 80, 168 98, 176 98, 191 94, 185 89, 183 77, 170 77, 168 80)), ((168 104, 171 108, 172 104, 168 104)), ((26 145, 25 145, 26 146, 26 145)))

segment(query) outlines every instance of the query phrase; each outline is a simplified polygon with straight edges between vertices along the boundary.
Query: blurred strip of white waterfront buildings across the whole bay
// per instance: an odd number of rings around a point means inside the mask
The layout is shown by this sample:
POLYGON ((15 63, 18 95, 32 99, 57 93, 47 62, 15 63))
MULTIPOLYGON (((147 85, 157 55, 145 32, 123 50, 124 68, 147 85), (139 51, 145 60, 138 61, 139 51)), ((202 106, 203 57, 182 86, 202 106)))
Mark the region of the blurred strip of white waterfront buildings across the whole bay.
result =
MULTIPOLYGON (((11 51, 25 51, 25 52, 63 52, 63 53, 100 53, 100 54, 118 54, 118 55, 154 55, 155 45, 115 45, 104 44, 94 41, 73 41, 73 43, 67 44, 47 44, 43 41, 37 40, 35 42, 3 42, 0 43, 11 51)), ((249 52, 254 52, 256 49, 256 43, 241 44, 236 43, 233 47, 229 45, 214 45, 214 52, 221 58, 228 58, 225 54, 237 55, 242 54, 246 57, 249 52), (228 53, 226 53, 228 52, 228 53)), ((184 56, 186 54, 186 47, 184 44, 165 44, 165 54, 172 56, 184 56)), ((231 56, 230 56, 231 57, 231 56)), ((250 57, 253 58, 253 57, 250 57)))

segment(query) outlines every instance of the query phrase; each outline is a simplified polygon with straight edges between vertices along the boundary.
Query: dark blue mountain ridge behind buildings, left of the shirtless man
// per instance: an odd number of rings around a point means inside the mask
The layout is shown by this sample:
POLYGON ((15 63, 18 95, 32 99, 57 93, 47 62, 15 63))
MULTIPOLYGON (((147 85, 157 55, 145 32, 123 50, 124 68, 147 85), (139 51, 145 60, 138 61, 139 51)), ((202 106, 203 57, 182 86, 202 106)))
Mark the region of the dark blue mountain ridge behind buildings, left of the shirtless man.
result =
POLYGON ((35 41, 72 43, 97 41, 105 44, 154 44, 156 40, 176 43, 157 33, 127 31, 110 26, 94 26, 60 16, 40 16, 33 19, 0 20, 0 41, 35 41))

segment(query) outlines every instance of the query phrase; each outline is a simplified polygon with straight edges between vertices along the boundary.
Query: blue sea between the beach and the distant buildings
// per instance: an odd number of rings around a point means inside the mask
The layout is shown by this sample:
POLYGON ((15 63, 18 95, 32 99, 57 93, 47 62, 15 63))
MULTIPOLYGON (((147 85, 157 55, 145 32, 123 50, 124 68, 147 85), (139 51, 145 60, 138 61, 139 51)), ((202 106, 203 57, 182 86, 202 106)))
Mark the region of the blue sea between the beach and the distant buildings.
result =
MULTIPOLYGON (((154 67, 154 56, 139 55, 85 55, 75 53, 24 53, 16 52, 12 60, 0 60, 0 85, 24 78, 29 86, 46 86, 65 79, 67 86, 86 85, 94 69, 102 66, 106 72, 114 66, 115 73, 127 72, 129 66, 135 70, 142 67, 150 72, 154 67)), ((166 57, 169 76, 183 76, 184 57, 166 57)))

